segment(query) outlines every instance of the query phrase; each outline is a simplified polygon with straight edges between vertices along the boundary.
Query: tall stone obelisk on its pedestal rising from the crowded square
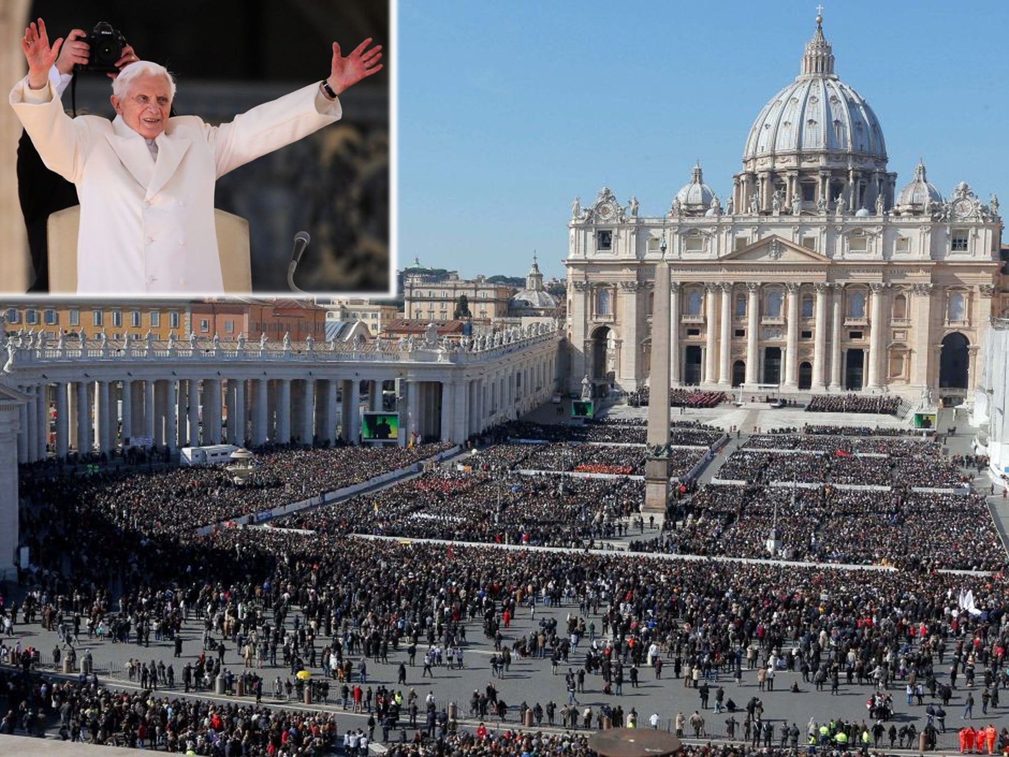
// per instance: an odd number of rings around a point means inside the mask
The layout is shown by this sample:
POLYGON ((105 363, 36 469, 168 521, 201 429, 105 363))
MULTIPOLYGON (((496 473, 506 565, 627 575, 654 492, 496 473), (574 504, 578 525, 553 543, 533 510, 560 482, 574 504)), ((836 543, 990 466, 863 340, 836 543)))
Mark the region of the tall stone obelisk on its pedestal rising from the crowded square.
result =
POLYGON ((652 311, 652 373, 648 400, 648 455, 645 461, 645 513, 665 513, 669 502, 669 262, 666 237, 655 266, 652 311))

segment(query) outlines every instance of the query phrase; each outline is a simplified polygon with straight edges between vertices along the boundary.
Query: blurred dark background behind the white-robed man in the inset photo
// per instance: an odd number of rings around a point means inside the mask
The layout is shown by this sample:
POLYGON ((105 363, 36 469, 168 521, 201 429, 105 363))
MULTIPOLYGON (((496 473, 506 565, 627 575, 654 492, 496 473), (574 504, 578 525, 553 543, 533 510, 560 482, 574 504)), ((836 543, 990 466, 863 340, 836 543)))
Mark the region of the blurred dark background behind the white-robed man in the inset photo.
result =
MULTIPOLYGON (((312 292, 389 289, 388 0, 36 0, 49 38, 108 21, 141 59, 178 81, 176 112, 211 123, 329 76, 331 43, 346 56, 366 37, 384 68, 340 97, 343 118, 217 182, 216 207, 246 218, 256 292, 288 291, 293 237, 312 243, 296 283, 312 292)), ((104 75, 78 77, 77 107, 114 116, 104 75)), ((63 97, 69 108, 71 92, 63 97)))

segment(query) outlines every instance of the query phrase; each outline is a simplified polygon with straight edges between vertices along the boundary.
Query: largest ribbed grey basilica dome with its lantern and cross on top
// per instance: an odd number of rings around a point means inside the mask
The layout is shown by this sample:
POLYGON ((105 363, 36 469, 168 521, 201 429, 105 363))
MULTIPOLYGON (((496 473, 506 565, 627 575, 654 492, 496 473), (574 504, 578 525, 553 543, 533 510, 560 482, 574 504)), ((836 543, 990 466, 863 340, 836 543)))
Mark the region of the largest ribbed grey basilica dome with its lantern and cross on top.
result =
POLYGON ((886 163, 873 109, 833 73, 822 17, 806 44, 801 74, 764 106, 750 128, 744 161, 783 154, 832 153, 886 163))

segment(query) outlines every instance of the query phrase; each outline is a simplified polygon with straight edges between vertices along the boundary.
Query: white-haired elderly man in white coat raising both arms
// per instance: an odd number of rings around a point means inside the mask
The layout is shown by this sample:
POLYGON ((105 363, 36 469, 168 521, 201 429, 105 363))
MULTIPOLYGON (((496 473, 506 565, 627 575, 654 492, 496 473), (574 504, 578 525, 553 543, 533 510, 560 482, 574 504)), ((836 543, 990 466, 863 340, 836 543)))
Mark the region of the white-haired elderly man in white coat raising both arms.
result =
POLYGON ((10 103, 45 166, 77 186, 78 294, 87 295, 223 294, 217 178, 335 122, 340 93, 382 68, 371 39, 346 58, 333 42, 324 81, 211 126, 170 118, 175 81, 163 67, 137 61, 113 82, 114 120, 72 119, 48 77, 62 43, 49 44, 42 19, 25 29, 28 76, 10 103))

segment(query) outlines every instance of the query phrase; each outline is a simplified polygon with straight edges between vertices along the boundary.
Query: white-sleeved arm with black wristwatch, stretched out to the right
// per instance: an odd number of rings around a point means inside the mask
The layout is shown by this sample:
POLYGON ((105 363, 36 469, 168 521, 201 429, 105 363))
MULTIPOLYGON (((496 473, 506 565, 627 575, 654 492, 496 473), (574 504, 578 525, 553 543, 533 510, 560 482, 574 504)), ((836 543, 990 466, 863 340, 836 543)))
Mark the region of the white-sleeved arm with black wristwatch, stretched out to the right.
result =
POLYGON ((343 58, 333 42, 329 77, 290 95, 256 106, 235 117, 231 123, 207 126, 207 141, 214 150, 217 176, 302 139, 342 115, 336 95, 381 70, 381 46, 367 48, 365 39, 343 58), (330 97, 326 91, 333 91, 330 97))

